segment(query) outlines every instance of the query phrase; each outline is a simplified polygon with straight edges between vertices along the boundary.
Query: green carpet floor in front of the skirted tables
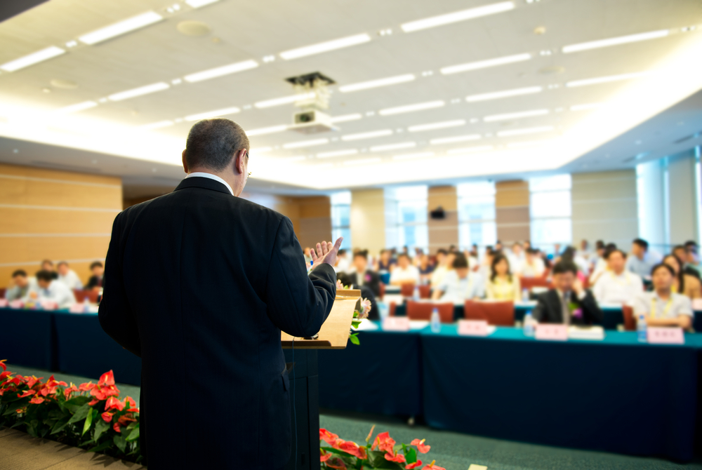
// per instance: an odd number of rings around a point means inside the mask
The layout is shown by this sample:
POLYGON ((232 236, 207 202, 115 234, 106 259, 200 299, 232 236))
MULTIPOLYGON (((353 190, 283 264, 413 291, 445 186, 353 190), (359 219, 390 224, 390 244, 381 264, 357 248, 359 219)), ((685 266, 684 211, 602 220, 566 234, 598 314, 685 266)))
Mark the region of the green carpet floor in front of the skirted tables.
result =
MULTIPOLYGON (((8 364, 8 370, 21 375, 36 375, 45 379, 51 375, 46 370, 30 369, 8 364)), ((54 373, 57 380, 65 382, 87 382, 85 377, 54 373)), ((90 380, 97 382, 98 377, 90 380)), ((121 397, 132 396, 139 401, 139 387, 117 384, 121 397)), ((446 470, 467 470, 470 464, 485 465, 488 470, 702 470, 702 461, 696 459, 689 464, 676 464, 663 459, 650 457, 630 457, 628 455, 573 450, 501 441, 499 439, 469 436, 449 431, 438 431, 423 426, 409 426, 400 419, 377 415, 322 410, 319 417, 321 427, 329 429, 347 441, 363 443, 373 424, 374 434, 390 431, 397 442, 409 443, 414 438, 426 439, 432 446, 426 457, 446 470)))

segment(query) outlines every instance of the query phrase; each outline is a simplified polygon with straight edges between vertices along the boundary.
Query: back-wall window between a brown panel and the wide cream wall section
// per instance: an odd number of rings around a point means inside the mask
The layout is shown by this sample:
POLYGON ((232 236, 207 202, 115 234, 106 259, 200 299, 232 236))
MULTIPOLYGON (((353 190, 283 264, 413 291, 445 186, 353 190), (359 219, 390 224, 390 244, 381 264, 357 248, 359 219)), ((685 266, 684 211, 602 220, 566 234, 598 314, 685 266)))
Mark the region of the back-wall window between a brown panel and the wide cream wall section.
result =
POLYGON ((531 244, 552 252, 572 243, 571 176, 556 175, 529 180, 531 244))

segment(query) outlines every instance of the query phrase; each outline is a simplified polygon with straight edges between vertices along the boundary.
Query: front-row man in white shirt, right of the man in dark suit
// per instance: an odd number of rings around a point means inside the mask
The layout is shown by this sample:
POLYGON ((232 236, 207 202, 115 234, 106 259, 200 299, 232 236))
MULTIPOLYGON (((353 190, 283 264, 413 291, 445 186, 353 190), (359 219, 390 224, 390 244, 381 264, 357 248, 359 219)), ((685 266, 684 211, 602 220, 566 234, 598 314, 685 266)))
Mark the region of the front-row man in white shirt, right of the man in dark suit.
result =
POLYGON ((675 271, 668 264, 651 270, 654 290, 640 293, 634 302, 634 316, 643 315, 647 326, 679 326, 692 330, 692 305, 689 297, 673 292, 675 271))

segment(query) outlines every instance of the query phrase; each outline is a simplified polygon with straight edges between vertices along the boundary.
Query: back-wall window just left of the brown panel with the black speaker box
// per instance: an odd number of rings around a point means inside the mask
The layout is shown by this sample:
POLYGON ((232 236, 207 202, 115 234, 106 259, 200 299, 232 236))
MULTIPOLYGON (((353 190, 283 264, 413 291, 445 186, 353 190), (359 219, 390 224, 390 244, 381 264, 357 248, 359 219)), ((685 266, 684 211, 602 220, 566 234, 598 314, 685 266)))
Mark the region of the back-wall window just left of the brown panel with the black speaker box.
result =
POLYGON ((428 188, 404 186, 385 189, 385 244, 388 248, 429 247, 428 188))

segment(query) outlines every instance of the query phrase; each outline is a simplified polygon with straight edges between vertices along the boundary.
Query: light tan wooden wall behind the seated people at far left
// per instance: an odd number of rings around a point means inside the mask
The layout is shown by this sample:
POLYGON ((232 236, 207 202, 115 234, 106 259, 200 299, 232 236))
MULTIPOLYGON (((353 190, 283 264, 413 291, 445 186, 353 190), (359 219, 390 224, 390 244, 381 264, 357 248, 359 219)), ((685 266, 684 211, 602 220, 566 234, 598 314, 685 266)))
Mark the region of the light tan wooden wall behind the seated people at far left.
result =
POLYGON ((0 285, 44 259, 67 261, 86 282, 121 209, 119 177, 0 164, 0 285))

